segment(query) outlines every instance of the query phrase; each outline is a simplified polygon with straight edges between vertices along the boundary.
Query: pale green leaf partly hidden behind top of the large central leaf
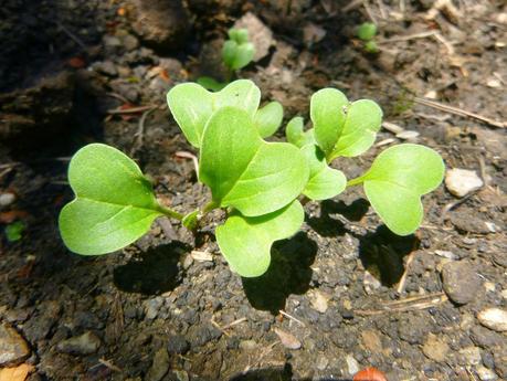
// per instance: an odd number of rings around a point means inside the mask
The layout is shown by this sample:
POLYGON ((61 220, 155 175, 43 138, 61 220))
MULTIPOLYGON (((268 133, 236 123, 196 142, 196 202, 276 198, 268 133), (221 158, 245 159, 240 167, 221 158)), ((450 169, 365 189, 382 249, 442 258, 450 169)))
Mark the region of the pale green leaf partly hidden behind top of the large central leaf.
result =
POLYGON ((225 106, 247 112, 252 117, 258 108, 261 91, 250 80, 231 82, 218 93, 208 92, 196 83, 183 83, 167 94, 167 103, 187 140, 201 146, 202 133, 211 114, 225 106))

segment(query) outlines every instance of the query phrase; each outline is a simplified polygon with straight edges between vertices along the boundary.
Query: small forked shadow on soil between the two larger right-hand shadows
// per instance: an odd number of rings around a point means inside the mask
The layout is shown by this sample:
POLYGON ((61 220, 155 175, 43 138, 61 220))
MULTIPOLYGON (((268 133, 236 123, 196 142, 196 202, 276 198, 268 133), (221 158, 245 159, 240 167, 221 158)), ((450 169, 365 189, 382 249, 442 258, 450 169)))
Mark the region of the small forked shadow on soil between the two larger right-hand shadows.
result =
POLYGON ((341 214, 349 221, 360 221, 368 212, 369 202, 365 199, 358 199, 350 204, 344 201, 325 200, 320 202, 320 215, 309 218, 308 224, 321 236, 344 235, 347 230, 341 221, 332 214, 341 214))

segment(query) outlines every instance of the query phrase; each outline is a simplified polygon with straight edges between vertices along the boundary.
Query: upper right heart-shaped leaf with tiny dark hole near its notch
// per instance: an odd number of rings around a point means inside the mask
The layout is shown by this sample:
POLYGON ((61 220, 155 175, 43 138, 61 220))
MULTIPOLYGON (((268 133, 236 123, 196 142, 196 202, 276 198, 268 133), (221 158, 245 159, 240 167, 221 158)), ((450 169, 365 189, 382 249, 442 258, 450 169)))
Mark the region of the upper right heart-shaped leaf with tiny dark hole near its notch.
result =
POLYGON ((361 155, 374 141, 382 110, 373 100, 349 103, 336 88, 323 88, 311 96, 310 117, 315 138, 329 161, 361 155))

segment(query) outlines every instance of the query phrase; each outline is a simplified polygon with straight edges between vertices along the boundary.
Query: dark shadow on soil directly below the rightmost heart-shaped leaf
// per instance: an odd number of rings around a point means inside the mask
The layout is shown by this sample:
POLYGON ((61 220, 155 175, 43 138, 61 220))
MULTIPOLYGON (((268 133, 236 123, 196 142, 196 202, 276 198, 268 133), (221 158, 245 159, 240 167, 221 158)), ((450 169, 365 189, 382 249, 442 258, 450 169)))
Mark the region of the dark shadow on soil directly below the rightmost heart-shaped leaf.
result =
POLYGON ((404 273, 403 257, 418 250, 421 243, 415 235, 400 236, 385 225, 380 225, 373 233, 356 237, 359 239, 362 265, 388 287, 400 282, 404 273))

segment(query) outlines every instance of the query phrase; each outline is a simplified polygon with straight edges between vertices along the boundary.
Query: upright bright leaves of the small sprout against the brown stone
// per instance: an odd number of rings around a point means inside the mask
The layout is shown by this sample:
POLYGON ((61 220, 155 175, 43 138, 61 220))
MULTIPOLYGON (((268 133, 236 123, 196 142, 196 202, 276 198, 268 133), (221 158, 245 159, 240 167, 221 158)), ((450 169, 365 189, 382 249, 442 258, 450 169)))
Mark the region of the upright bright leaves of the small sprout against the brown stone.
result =
POLYGON ((254 45, 249 42, 249 31, 246 29, 229 30, 229 40, 222 47, 222 60, 231 71, 245 67, 252 62, 255 55, 254 45))

